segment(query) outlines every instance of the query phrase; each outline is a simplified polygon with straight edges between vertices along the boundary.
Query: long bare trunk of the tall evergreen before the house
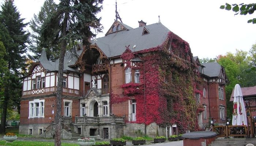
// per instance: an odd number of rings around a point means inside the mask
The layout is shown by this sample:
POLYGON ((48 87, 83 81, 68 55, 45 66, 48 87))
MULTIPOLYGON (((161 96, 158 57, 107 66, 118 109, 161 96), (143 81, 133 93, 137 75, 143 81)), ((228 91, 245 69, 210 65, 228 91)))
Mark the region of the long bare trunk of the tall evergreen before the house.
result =
MULTIPOLYGON (((68 12, 65 12, 65 18, 63 21, 62 28, 62 41, 61 41, 61 51, 60 51, 60 61, 59 61, 59 72, 58 72, 58 84, 57 84, 57 100, 56 100, 56 116, 55 116, 55 137, 54 137, 54 145, 61 146, 61 98, 62 98, 62 90, 63 90, 63 68, 64 68, 64 57, 66 52, 67 41, 65 39, 66 32, 68 26, 68 12)), ((64 122, 64 121, 63 121, 64 122)))

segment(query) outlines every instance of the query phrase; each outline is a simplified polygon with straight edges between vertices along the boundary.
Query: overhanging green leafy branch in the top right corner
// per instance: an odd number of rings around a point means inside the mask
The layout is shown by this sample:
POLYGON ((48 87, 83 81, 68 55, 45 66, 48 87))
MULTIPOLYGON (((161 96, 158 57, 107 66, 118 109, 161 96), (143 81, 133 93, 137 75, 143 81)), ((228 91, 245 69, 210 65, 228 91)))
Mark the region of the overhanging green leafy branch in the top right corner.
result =
MULTIPOLYGON (((226 9, 226 10, 231 10, 236 12, 235 15, 240 14, 240 15, 247 15, 247 14, 253 14, 253 12, 256 10, 256 4, 252 3, 252 4, 228 4, 226 3, 226 5, 221 5, 220 7, 221 9, 226 9)), ((248 20, 247 23, 256 23, 256 18, 250 19, 248 20)))

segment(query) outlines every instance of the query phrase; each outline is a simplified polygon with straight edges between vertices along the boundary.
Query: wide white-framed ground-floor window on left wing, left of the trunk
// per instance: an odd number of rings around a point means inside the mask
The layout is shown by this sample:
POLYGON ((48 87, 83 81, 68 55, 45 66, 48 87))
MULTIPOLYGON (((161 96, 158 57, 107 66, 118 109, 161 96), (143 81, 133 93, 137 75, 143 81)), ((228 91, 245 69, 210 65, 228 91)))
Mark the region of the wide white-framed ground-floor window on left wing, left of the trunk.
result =
POLYGON ((44 99, 34 99, 29 101, 29 119, 44 118, 44 102, 44 99), (36 104, 39 104, 39 106, 36 106, 36 104))

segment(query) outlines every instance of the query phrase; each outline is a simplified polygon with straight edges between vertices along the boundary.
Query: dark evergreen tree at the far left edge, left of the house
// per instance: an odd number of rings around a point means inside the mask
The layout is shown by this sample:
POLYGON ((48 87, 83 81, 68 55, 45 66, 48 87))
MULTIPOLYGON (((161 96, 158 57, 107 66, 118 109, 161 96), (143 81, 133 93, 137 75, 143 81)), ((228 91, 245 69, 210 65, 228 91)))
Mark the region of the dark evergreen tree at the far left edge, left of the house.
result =
POLYGON ((26 43, 28 43, 29 33, 23 30, 27 23, 20 18, 20 14, 12 0, 6 0, 1 5, 0 11, 0 41, 6 50, 4 60, 7 63, 8 72, 3 74, 3 98, 0 133, 5 133, 5 122, 7 108, 16 106, 19 109, 19 98, 21 97, 22 82, 20 81, 20 69, 25 69, 26 43))

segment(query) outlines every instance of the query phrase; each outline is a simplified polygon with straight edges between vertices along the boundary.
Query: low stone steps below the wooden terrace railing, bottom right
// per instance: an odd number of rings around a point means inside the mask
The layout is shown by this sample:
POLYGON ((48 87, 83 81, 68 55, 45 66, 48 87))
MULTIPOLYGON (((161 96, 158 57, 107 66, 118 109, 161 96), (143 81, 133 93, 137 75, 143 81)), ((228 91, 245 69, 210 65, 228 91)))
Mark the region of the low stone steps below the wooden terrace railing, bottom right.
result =
POLYGON ((248 143, 256 146, 256 138, 215 139, 215 141, 208 146, 245 146, 248 143))

